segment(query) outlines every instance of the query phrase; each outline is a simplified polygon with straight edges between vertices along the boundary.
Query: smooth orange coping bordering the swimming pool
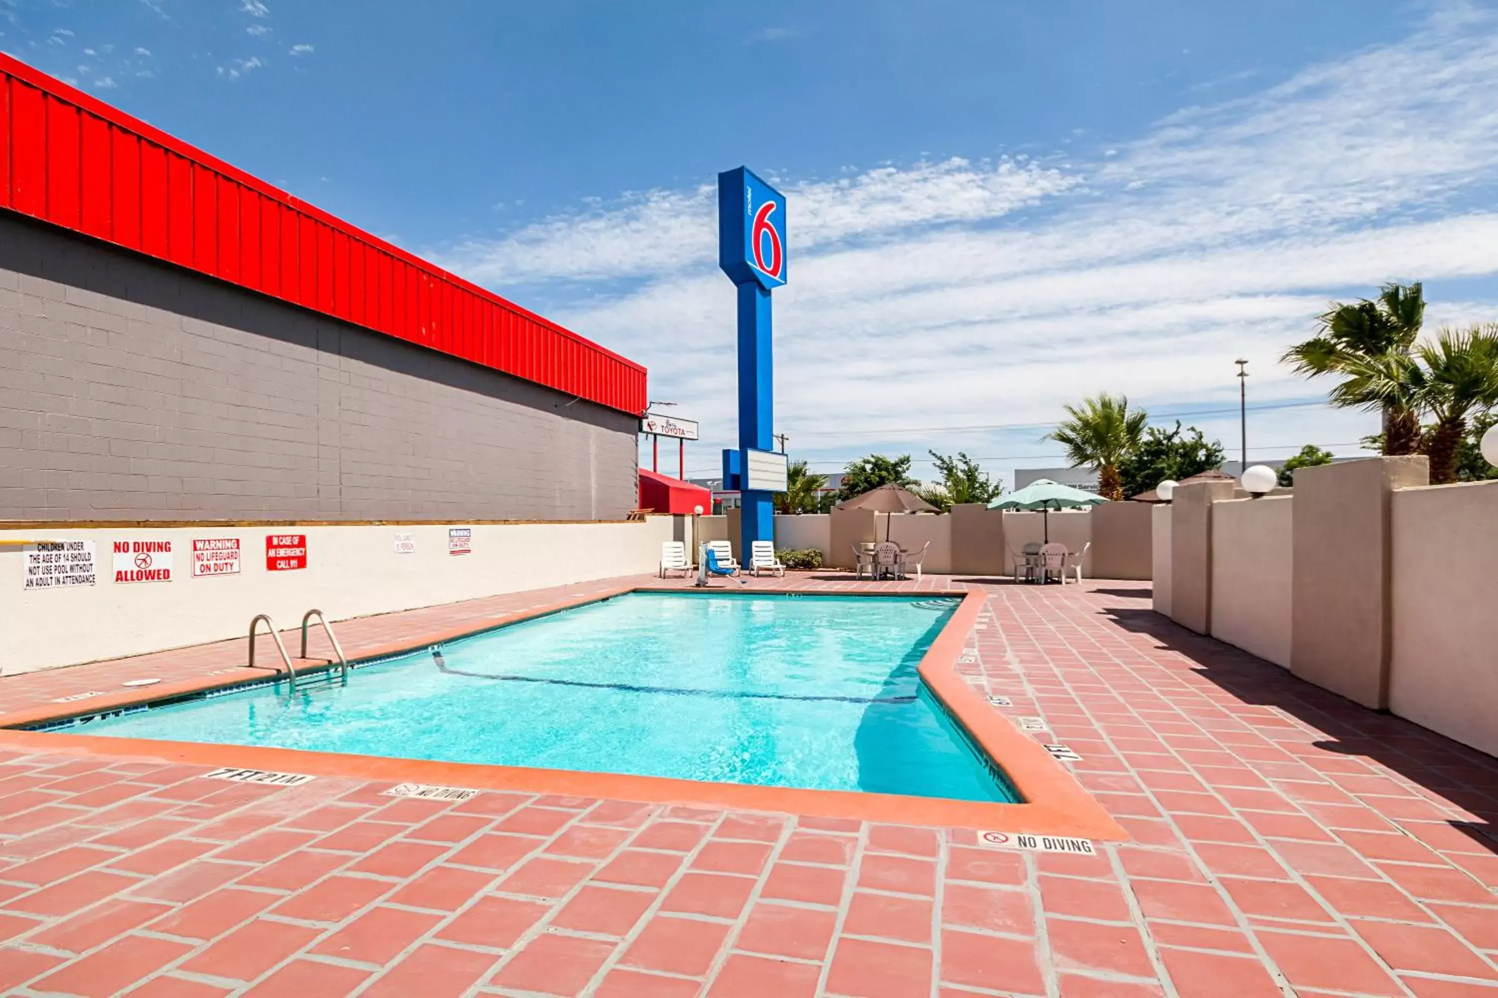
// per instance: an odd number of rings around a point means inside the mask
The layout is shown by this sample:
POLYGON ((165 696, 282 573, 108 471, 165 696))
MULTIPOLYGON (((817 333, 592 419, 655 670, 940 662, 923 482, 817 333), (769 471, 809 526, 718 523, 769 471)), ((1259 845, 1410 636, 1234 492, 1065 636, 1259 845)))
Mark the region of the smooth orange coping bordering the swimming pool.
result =
MULTIPOLYGON (((418 637, 361 649, 355 661, 363 663, 421 651, 430 645, 550 616, 562 610, 587 606, 628 593, 682 594, 683 591, 689 590, 640 584, 599 590, 584 597, 506 613, 481 625, 469 624, 461 628, 427 631, 418 637)), ((728 591, 718 590, 718 593, 728 591)), ((746 593, 746 596, 749 594, 797 596, 804 599, 816 599, 819 596, 909 599, 915 596, 870 590, 816 590, 807 593, 804 590, 779 588, 755 588, 746 593)), ((321 753, 261 745, 70 735, 64 730, 16 730, 48 721, 90 717, 178 696, 229 690, 261 682, 283 676, 286 670, 280 664, 276 667, 258 666, 255 669, 256 675, 250 676, 201 676, 102 697, 90 697, 87 702, 46 705, 0 714, 0 747, 30 751, 66 750, 90 756, 148 757, 184 765, 267 769, 312 777, 355 777, 364 780, 389 780, 392 783, 455 786, 475 790, 520 790, 637 800, 643 803, 719 806, 929 827, 963 827, 1008 833, 1076 836, 1098 841, 1126 841, 1128 833, 1109 817, 1103 805, 1088 795, 1076 777, 1061 762, 1053 759, 1040 742, 1020 732, 1014 723, 990 706, 983 694, 974 690, 957 670, 959 660, 968 645, 968 634, 974 631, 974 625, 987 603, 987 596, 978 590, 923 590, 918 596, 921 599, 948 597, 960 600, 957 609, 953 610, 951 618, 921 658, 918 673, 927 688, 966 730, 978 748, 1008 775, 1010 783, 1023 798, 1022 803, 948 800, 854 790, 759 787, 569 769, 388 759, 382 756, 321 753)), ((298 669, 298 676, 327 672, 330 667, 336 667, 336 663, 330 663, 328 660, 306 661, 312 664, 306 669, 298 669)))

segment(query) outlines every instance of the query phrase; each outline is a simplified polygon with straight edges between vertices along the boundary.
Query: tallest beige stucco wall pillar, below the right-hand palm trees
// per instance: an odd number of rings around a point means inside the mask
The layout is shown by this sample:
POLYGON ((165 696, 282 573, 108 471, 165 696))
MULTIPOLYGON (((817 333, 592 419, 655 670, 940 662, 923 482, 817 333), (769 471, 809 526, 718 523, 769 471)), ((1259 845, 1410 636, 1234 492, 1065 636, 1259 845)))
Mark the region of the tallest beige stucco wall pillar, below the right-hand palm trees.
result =
POLYGON ((1389 706, 1390 495, 1428 482, 1423 456, 1296 471, 1290 670, 1297 676, 1368 708, 1389 706))

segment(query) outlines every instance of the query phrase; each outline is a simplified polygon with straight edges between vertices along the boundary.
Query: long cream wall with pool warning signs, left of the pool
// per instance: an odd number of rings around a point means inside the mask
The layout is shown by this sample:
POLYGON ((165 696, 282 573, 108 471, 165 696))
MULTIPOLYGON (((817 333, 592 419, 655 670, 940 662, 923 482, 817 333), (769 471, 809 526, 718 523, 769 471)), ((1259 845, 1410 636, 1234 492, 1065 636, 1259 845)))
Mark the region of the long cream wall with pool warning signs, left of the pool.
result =
POLYGON ((467 555, 448 554, 446 524, 0 530, 0 585, 7 590, 0 600, 0 673, 237 637, 256 613, 270 613, 285 628, 315 606, 339 621, 653 573, 661 542, 676 534, 674 519, 472 525, 467 555), (306 534, 307 567, 267 572, 267 534, 306 534), (395 534, 412 534, 415 552, 397 554, 395 534), (192 578, 195 537, 238 537, 240 575, 192 578), (27 546, 3 543, 15 540, 91 540, 97 582, 24 590, 27 546), (172 581, 114 582, 117 540, 171 540, 172 581))

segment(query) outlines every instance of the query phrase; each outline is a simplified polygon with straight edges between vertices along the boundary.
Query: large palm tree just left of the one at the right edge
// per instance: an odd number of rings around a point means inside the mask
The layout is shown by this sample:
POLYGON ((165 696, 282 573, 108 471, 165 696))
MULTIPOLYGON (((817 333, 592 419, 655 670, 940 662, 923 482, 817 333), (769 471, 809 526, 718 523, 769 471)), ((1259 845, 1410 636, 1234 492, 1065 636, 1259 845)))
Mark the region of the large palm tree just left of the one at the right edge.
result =
POLYGON ((1420 335, 1423 320, 1425 289, 1420 281, 1386 284, 1378 301, 1365 298, 1332 305, 1318 320, 1320 332, 1285 350, 1281 359, 1291 364, 1297 374, 1308 377, 1347 376, 1348 380, 1333 389, 1332 404, 1381 410, 1384 453, 1416 453, 1420 449, 1420 407, 1404 391, 1411 386, 1399 377, 1374 377, 1369 382, 1368 376, 1377 370, 1384 376, 1398 376, 1402 359, 1410 358, 1416 337, 1420 335), (1360 385, 1369 383, 1377 383, 1384 391, 1377 397, 1359 391, 1360 385))

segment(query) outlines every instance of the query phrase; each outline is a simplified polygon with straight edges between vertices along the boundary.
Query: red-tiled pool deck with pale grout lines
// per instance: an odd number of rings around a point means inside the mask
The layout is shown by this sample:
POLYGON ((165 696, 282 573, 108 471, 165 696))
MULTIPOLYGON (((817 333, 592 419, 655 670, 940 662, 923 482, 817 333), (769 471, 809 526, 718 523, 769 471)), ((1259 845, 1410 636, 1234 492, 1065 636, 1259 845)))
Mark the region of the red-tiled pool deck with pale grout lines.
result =
MULTIPOLYGON (((629 582, 339 636, 352 654, 629 582)), ((1498 998, 1498 760, 1174 627, 1147 584, 983 588, 962 669, 1013 700, 995 709, 1046 718, 1035 738, 1082 756, 1131 842, 1089 857, 789 814, 276 789, 0 733, 0 994, 1498 998)), ((243 655, 7 676, 0 712, 243 655)))

